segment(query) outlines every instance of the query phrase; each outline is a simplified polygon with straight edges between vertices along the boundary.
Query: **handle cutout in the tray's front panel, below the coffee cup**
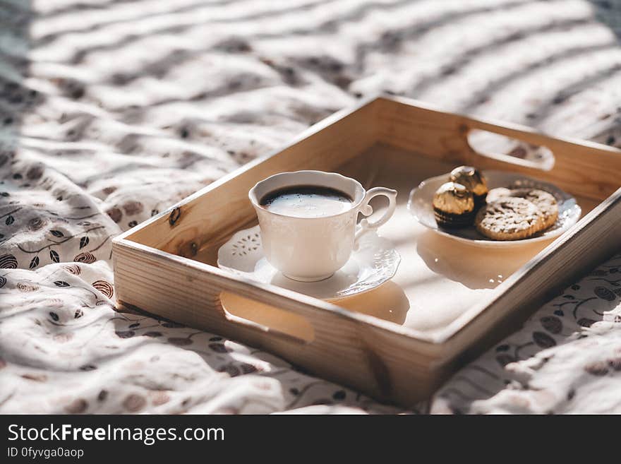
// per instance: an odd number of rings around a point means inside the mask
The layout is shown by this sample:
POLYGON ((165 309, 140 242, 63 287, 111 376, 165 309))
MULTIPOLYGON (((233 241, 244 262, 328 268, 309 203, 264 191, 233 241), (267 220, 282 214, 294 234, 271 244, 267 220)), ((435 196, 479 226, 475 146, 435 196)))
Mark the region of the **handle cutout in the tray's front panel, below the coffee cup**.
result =
POLYGON ((257 331, 307 344, 315 340, 315 329, 304 316, 270 306, 255 299, 220 293, 224 317, 257 331))

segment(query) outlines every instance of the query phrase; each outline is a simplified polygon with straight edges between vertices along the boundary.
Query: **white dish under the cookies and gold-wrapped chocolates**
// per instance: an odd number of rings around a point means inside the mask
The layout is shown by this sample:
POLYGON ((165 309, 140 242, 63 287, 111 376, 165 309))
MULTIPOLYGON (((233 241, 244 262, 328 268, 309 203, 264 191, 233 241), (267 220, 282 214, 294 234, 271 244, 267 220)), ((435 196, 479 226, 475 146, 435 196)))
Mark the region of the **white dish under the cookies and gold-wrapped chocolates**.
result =
POLYGON ((553 184, 531 179, 523 174, 515 174, 512 172, 485 171, 483 174, 486 177, 488 188, 490 190, 497 187, 520 186, 545 190, 550 194, 553 194, 558 202, 558 219, 555 224, 529 239, 507 241, 488 239, 478 233, 474 226, 463 227, 462 229, 445 229, 438 227, 433 215, 433 206, 431 201, 433 200, 433 194, 438 187, 445 182, 448 182, 449 174, 431 177, 430 179, 426 179, 421 182, 421 184, 419 184, 418 187, 413 189, 410 193, 408 209, 418 220, 418 222, 425 227, 438 232, 438 234, 458 240, 459 242, 465 242, 487 248, 510 248, 512 246, 522 246, 532 244, 533 242, 551 240, 565 232, 569 229, 569 227, 572 227, 572 225, 580 219, 582 210, 576 203, 576 199, 553 184))

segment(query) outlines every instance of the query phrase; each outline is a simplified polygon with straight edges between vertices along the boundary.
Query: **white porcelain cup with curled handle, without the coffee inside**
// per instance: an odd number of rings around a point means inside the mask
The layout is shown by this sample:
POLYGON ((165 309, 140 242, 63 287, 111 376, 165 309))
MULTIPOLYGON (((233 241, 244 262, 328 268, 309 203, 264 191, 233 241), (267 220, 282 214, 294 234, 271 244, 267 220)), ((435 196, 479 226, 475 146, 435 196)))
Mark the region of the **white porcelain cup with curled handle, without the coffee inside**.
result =
POLYGON ((261 241, 267 261, 293 280, 314 282, 329 278, 342 268, 358 239, 370 229, 376 229, 390 219, 397 207, 397 191, 375 187, 365 191, 360 182, 334 172, 282 172, 258 182, 248 192, 261 230, 261 241), (272 191, 291 186, 323 186, 337 189, 354 201, 351 208, 335 215, 320 218, 299 218, 273 213, 260 206, 261 199, 272 191), (388 208, 382 218, 374 222, 361 220, 358 213, 369 216, 373 208, 368 204, 374 196, 388 198, 388 208))

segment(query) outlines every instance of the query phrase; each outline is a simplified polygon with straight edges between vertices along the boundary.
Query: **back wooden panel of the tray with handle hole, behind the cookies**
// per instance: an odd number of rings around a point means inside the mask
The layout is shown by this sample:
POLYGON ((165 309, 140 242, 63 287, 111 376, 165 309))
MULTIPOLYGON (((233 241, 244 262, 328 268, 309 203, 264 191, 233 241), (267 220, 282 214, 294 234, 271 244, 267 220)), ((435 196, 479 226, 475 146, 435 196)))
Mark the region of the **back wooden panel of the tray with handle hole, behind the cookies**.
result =
POLYGON ((481 121, 430 109, 407 99, 378 100, 378 132, 384 143, 454 163, 466 162, 481 169, 507 169, 552 182, 577 196, 602 201, 620 186, 621 150, 588 141, 553 138, 517 124, 481 121), (555 163, 544 171, 532 162, 508 155, 482 155, 467 139, 481 129, 552 150, 555 163))

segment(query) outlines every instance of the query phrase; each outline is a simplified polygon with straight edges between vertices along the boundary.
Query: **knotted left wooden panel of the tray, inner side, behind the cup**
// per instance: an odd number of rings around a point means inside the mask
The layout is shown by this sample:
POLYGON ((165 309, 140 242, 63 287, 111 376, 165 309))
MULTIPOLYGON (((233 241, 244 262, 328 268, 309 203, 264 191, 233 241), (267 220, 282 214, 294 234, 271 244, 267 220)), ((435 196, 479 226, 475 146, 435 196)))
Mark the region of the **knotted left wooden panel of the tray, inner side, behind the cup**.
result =
POLYGON ((375 103, 334 114, 283 150, 219 179, 123 237, 172 254, 194 256, 207 242, 230 235, 255 217, 248 191, 258 180, 299 169, 330 171, 372 145, 375 103))

